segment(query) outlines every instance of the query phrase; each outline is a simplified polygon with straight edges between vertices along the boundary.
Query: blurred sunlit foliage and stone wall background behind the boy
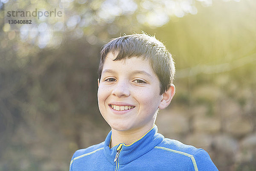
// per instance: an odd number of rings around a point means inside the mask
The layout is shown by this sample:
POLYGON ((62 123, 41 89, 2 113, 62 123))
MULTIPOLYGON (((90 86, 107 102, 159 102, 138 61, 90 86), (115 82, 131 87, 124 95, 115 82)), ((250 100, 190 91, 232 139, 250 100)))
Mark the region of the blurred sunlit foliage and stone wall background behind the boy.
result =
POLYGON ((141 31, 176 63, 159 132, 204 148, 220 171, 255 171, 255 9, 255 0, 0 0, 0 171, 67 171, 74 151, 104 141, 100 48, 141 31), (64 20, 14 31, 7 5, 58 7, 64 20))

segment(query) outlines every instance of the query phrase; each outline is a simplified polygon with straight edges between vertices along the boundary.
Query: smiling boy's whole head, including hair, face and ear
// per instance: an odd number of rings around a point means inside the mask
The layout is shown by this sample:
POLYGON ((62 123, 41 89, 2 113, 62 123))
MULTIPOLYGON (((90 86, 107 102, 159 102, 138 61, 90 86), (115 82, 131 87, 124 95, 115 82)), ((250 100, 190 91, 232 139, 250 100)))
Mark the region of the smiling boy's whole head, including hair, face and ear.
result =
POLYGON ((127 35, 103 46, 98 104, 114 130, 149 130, 175 94, 172 56, 154 37, 127 35))

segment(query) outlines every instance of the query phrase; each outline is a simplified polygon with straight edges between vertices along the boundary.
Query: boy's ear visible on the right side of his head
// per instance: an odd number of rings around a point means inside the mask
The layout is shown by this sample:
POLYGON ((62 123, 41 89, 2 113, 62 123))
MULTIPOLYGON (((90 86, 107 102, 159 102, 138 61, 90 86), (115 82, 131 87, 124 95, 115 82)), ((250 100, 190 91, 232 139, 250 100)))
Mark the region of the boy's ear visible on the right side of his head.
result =
POLYGON ((166 108, 172 101, 172 98, 175 94, 175 86, 174 84, 171 84, 170 88, 166 90, 161 96, 162 99, 160 101, 160 104, 158 106, 159 109, 166 108))

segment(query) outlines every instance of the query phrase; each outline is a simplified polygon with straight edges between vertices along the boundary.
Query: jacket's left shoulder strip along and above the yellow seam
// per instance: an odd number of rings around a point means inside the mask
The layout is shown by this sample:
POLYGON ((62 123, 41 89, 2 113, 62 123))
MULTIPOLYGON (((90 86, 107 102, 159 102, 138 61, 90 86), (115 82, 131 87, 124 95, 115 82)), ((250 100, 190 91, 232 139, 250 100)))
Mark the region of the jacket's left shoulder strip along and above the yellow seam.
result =
POLYGON ((101 142, 96 145, 92 145, 87 148, 79 149, 74 153, 73 158, 83 156, 83 155, 90 155, 97 151, 103 150, 103 148, 104 148, 104 142, 101 142))

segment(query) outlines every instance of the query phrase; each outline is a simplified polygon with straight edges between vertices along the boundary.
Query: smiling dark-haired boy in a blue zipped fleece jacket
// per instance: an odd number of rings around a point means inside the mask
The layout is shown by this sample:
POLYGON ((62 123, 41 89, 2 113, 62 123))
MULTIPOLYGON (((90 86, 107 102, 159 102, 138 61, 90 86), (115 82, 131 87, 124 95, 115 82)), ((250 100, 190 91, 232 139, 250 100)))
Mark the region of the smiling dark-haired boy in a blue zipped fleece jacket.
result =
POLYGON ((175 94, 174 61, 163 43, 125 35, 103 46, 100 59, 98 105, 111 131, 76 151, 70 171, 218 171, 203 149, 157 133, 158 110, 175 94))

